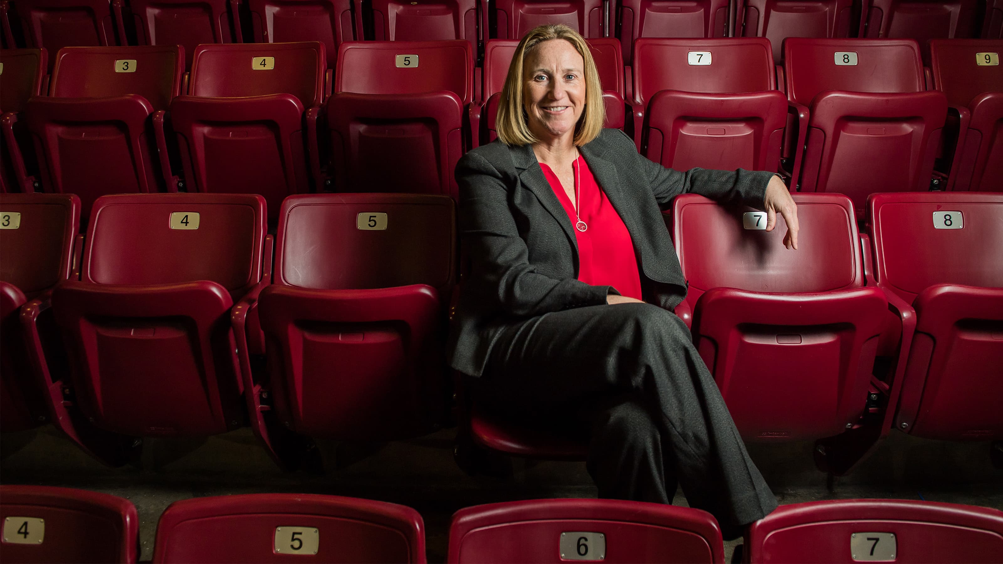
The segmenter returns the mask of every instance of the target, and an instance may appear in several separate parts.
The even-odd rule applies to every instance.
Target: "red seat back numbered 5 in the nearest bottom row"
[[[310,494],[175,502],[156,526],[153,562],[425,562],[424,523],[409,507]]]

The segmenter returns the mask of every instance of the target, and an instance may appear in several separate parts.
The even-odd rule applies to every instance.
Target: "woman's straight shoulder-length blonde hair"
[[[501,88],[495,129],[501,143],[509,146],[533,145],[538,139],[530,131],[529,117],[523,107],[523,62],[538,45],[551,39],[564,39],[575,47],[585,61],[585,110],[575,125],[575,145],[581,147],[599,136],[606,121],[603,103],[603,85],[599,81],[592,50],[577,31],[567,25],[541,25],[532,29],[516,47],[516,54],[509,65],[509,75]]]

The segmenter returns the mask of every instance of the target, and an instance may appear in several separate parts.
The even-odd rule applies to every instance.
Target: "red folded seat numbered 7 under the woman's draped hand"
[[[854,208],[838,194],[795,194],[797,252],[779,216],[738,214],[696,195],[673,204],[693,339],[742,437],[804,441],[860,425],[888,307],[865,287]]]

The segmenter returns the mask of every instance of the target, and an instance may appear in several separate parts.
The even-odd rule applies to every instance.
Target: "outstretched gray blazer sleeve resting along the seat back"
[[[649,186],[660,206],[668,206],[680,194],[692,193],[716,200],[722,204],[742,204],[761,210],[766,198],[766,185],[775,173],[762,171],[712,171],[690,169],[685,173],[666,169],[637,152],[637,146],[620,131],[623,140],[629,145],[629,153],[635,160],[634,170],[648,180]],[[625,147],[626,151],[628,148]]]

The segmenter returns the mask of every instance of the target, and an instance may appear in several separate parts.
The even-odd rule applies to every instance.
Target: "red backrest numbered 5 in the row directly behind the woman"
[[[417,66],[403,60],[407,55],[417,55]],[[335,92],[443,90],[456,94],[464,105],[473,99],[473,50],[468,41],[357,41],[342,44],[338,51]]]

